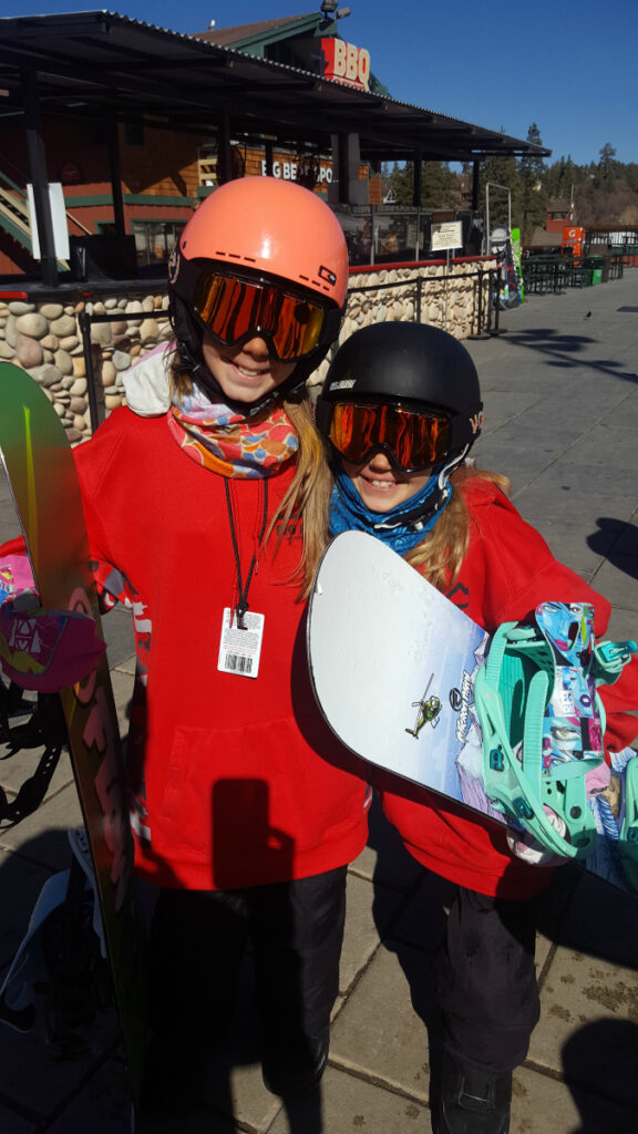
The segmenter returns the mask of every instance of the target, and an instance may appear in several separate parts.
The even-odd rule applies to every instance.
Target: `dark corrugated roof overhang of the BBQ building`
[[[460,119],[368,94],[109,11],[0,19],[0,118],[23,110],[23,71],[37,74],[42,113],[120,121],[328,150],[359,134],[368,161],[476,161],[551,151]]]

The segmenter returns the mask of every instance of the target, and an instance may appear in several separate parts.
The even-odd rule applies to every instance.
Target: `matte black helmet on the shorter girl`
[[[337,352],[317,403],[317,425],[329,438],[337,403],[433,411],[450,422],[445,460],[465,455],[482,424],[476,366],[447,331],[423,323],[376,323]]]

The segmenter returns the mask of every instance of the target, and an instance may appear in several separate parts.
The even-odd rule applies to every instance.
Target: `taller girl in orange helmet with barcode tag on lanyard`
[[[175,249],[175,341],[77,450],[101,583],[134,611],[131,806],[159,895],[145,1101],[161,1111],[196,1092],[249,938],[267,1085],[308,1090],[326,1064],[367,799],[300,645],[329,491],[304,383],[346,287],[320,198],[271,178],[224,185]]]

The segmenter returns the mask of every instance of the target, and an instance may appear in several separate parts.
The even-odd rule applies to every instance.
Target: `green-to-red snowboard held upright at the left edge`
[[[75,462],[45,393],[18,366],[0,363],[0,456],[43,607],[100,610]],[[144,962],[133,873],[125,768],[107,654],[60,693],[68,748],[99,897],[134,1102],[145,1051]]]

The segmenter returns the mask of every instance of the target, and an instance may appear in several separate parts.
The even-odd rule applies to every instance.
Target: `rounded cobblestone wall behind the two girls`
[[[445,264],[354,272],[339,342],[370,323],[412,322],[419,316],[423,323],[467,338],[478,330],[479,290],[485,320],[490,266],[495,261],[455,263],[450,274]],[[59,301],[58,294],[47,301],[35,294],[30,299],[0,297],[0,361],[17,363],[33,375],[56,407],[69,441],[76,443],[91,433],[79,314],[112,315],[112,321],[91,323],[96,400],[108,413],[124,401],[123,373],[170,336],[167,308],[168,296],[161,285],[148,294],[138,287],[127,291],[123,285],[118,296],[106,294],[99,299],[61,289]],[[335,350],[336,346],[312,375],[313,386],[322,381]]]

